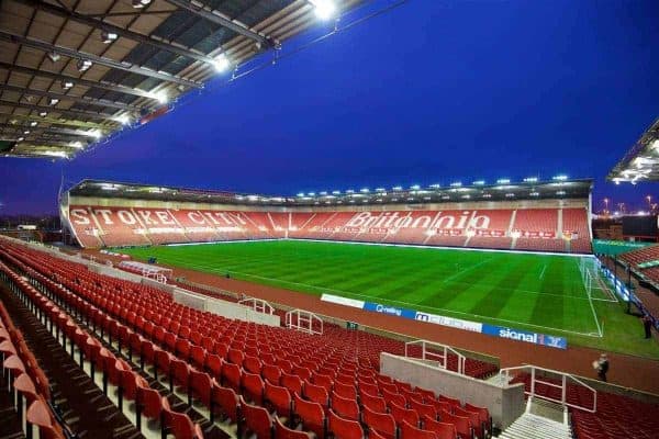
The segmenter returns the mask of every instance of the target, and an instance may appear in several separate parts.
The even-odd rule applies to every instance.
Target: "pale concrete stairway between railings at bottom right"
[[[567,409],[538,398],[529,398],[526,413],[499,435],[503,439],[572,439]]]

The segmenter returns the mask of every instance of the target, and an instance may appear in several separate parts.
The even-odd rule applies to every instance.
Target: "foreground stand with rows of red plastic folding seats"
[[[27,295],[33,302],[53,301],[58,309],[77,316],[80,325],[90,328],[90,334],[100,335],[100,342],[90,345],[96,349],[87,350],[86,356],[98,362],[99,370],[110,382],[116,379],[112,378],[115,372],[108,369],[108,364],[133,364],[155,378],[156,383],[168,386],[170,392],[176,387],[177,393],[187,394],[188,405],[199,399],[208,406],[210,416],[230,417],[231,423],[244,431],[258,432],[264,425],[271,431],[268,426],[277,423],[267,410],[260,409],[269,404],[282,413],[292,412],[291,427],[300,424],[319,437],[325,437],[327,429],[336,430],[335,434],[344,428],[357,431],[356,427],[361,428],[359,423],[333,415],[330,395],[338,392],[344,399],[354,402],[346,403],[353,406],[353,417],[357,404],[358,418],[383,437],[398,435],[398,425],[402,423],[393,414],[384,413],[388,410],[381,396],[384,392],[399,395],[403,412],[398,414],[405,419],[414,417],[411,412],[416,403],[432,407],[442,404],[440,395],[412,389],[378,372],[379,352],[401,348],[401,342],[394,340],[338,327],[331,327],[322,336],[312,336],[226,319],[175,303],[160,290],[93,273],[86,266],[3,239],[0,258],[40,285],[44,294],[49,294],[49,297],[40,297],[42,293],[30,288]],[[13,279],[22,278],[13,272]],[[25,280],[23,283],[29,284]],[[89,342],[82,341],[82,336],[77,338],[78,334],[86,334],[85,328],[70,317],[62,322],[71,322],[63,326],[68,328],[66,337],[86,349]],[[93,336],[86,336],[85,340],[90,337]],[[76,341],[78,339],[80,341]],[[473,361],[472,365],[483,364]],[[492,369],[485,375],[491,372]],[[135,380],[137,387],[139,383],[144,385],[138,378]],[[209,382],[212,383],[210,391]],[[152,393],[146,387],[137,390],[142,415],[148,418],[163,414],[161,428],[177,438],[201,437],[199,426],[185,414],[175,414],[166,399],[148,395]],[[459,402],[455,404],[462,407]],[[468,405],[463,409],[482,413]],[[349,412],[345,407],[343,410]],[[421,415],[417,416],[421,419]],[[446,420],[449,416],[455,415],[435,413],[432,418]],[[327,417],[328,424],[325,423]],[[483,428],[489,431],[488,425],[468,423],[469,432]]]

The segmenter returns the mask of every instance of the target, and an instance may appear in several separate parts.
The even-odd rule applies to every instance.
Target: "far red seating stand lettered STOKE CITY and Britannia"
[[[236,212],[71,206],[82,247],[302,238],[590,252],[583,209]],[[563,230],[559,230],[562,218]],[[90,225],[98,225],[90,235]],[[100,237],[97,238],[97,236]],[[570,239],[568,239],[570,238]]]

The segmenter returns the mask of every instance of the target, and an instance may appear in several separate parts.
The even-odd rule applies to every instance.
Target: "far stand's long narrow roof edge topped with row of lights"
[[[446,188],[414,185],[411,188],[377,188],[360,190],[311,192],[298,195],[247,194],[209,191],[185,188],[156,187],[147,184],[120,183],[101,180],[82,180],[69,189],[71,196],[119,198],[130,200],[157,200],[179,202],[223,203],[236,205],[267,206],[323,206],[356,204],[425,204],[474,201],[513,200],[560,200],[588,199],[592,190],[592,179],[568,180],[557,178],[550,181],[500,182],[471,185],[453,183]]]

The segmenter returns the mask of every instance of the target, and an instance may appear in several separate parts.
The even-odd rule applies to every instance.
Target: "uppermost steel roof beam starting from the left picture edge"
[[[46,43],[44,41],[33,38],[31,36],[22,36],[19,34],[14,34],[7,31],[0,31],[0,40],[8,41],[13,44],[22,44],[29,47],[37,48],[44,52],[55,52],[69,58],[90,60],[92,63],[99,64],[101,66],[105,66],[109,68],[129,71],[131,74],[142,75],[148,78],[160,79],[163,81],[178,83],[180,86],[186,86],[194,89],[202,89],[203,85],[197,81],[191,81],[189,79],[179,78],[178,76],[170,75],[164,71],[155,71],[152,69],[147,69],[144,67],[136,66],[134,64],[129,63],[120,63],[113,59],[104,58],[102,56],[88,54],[85,52],[78,52],[68,47],[62,47],[56,44]]]

